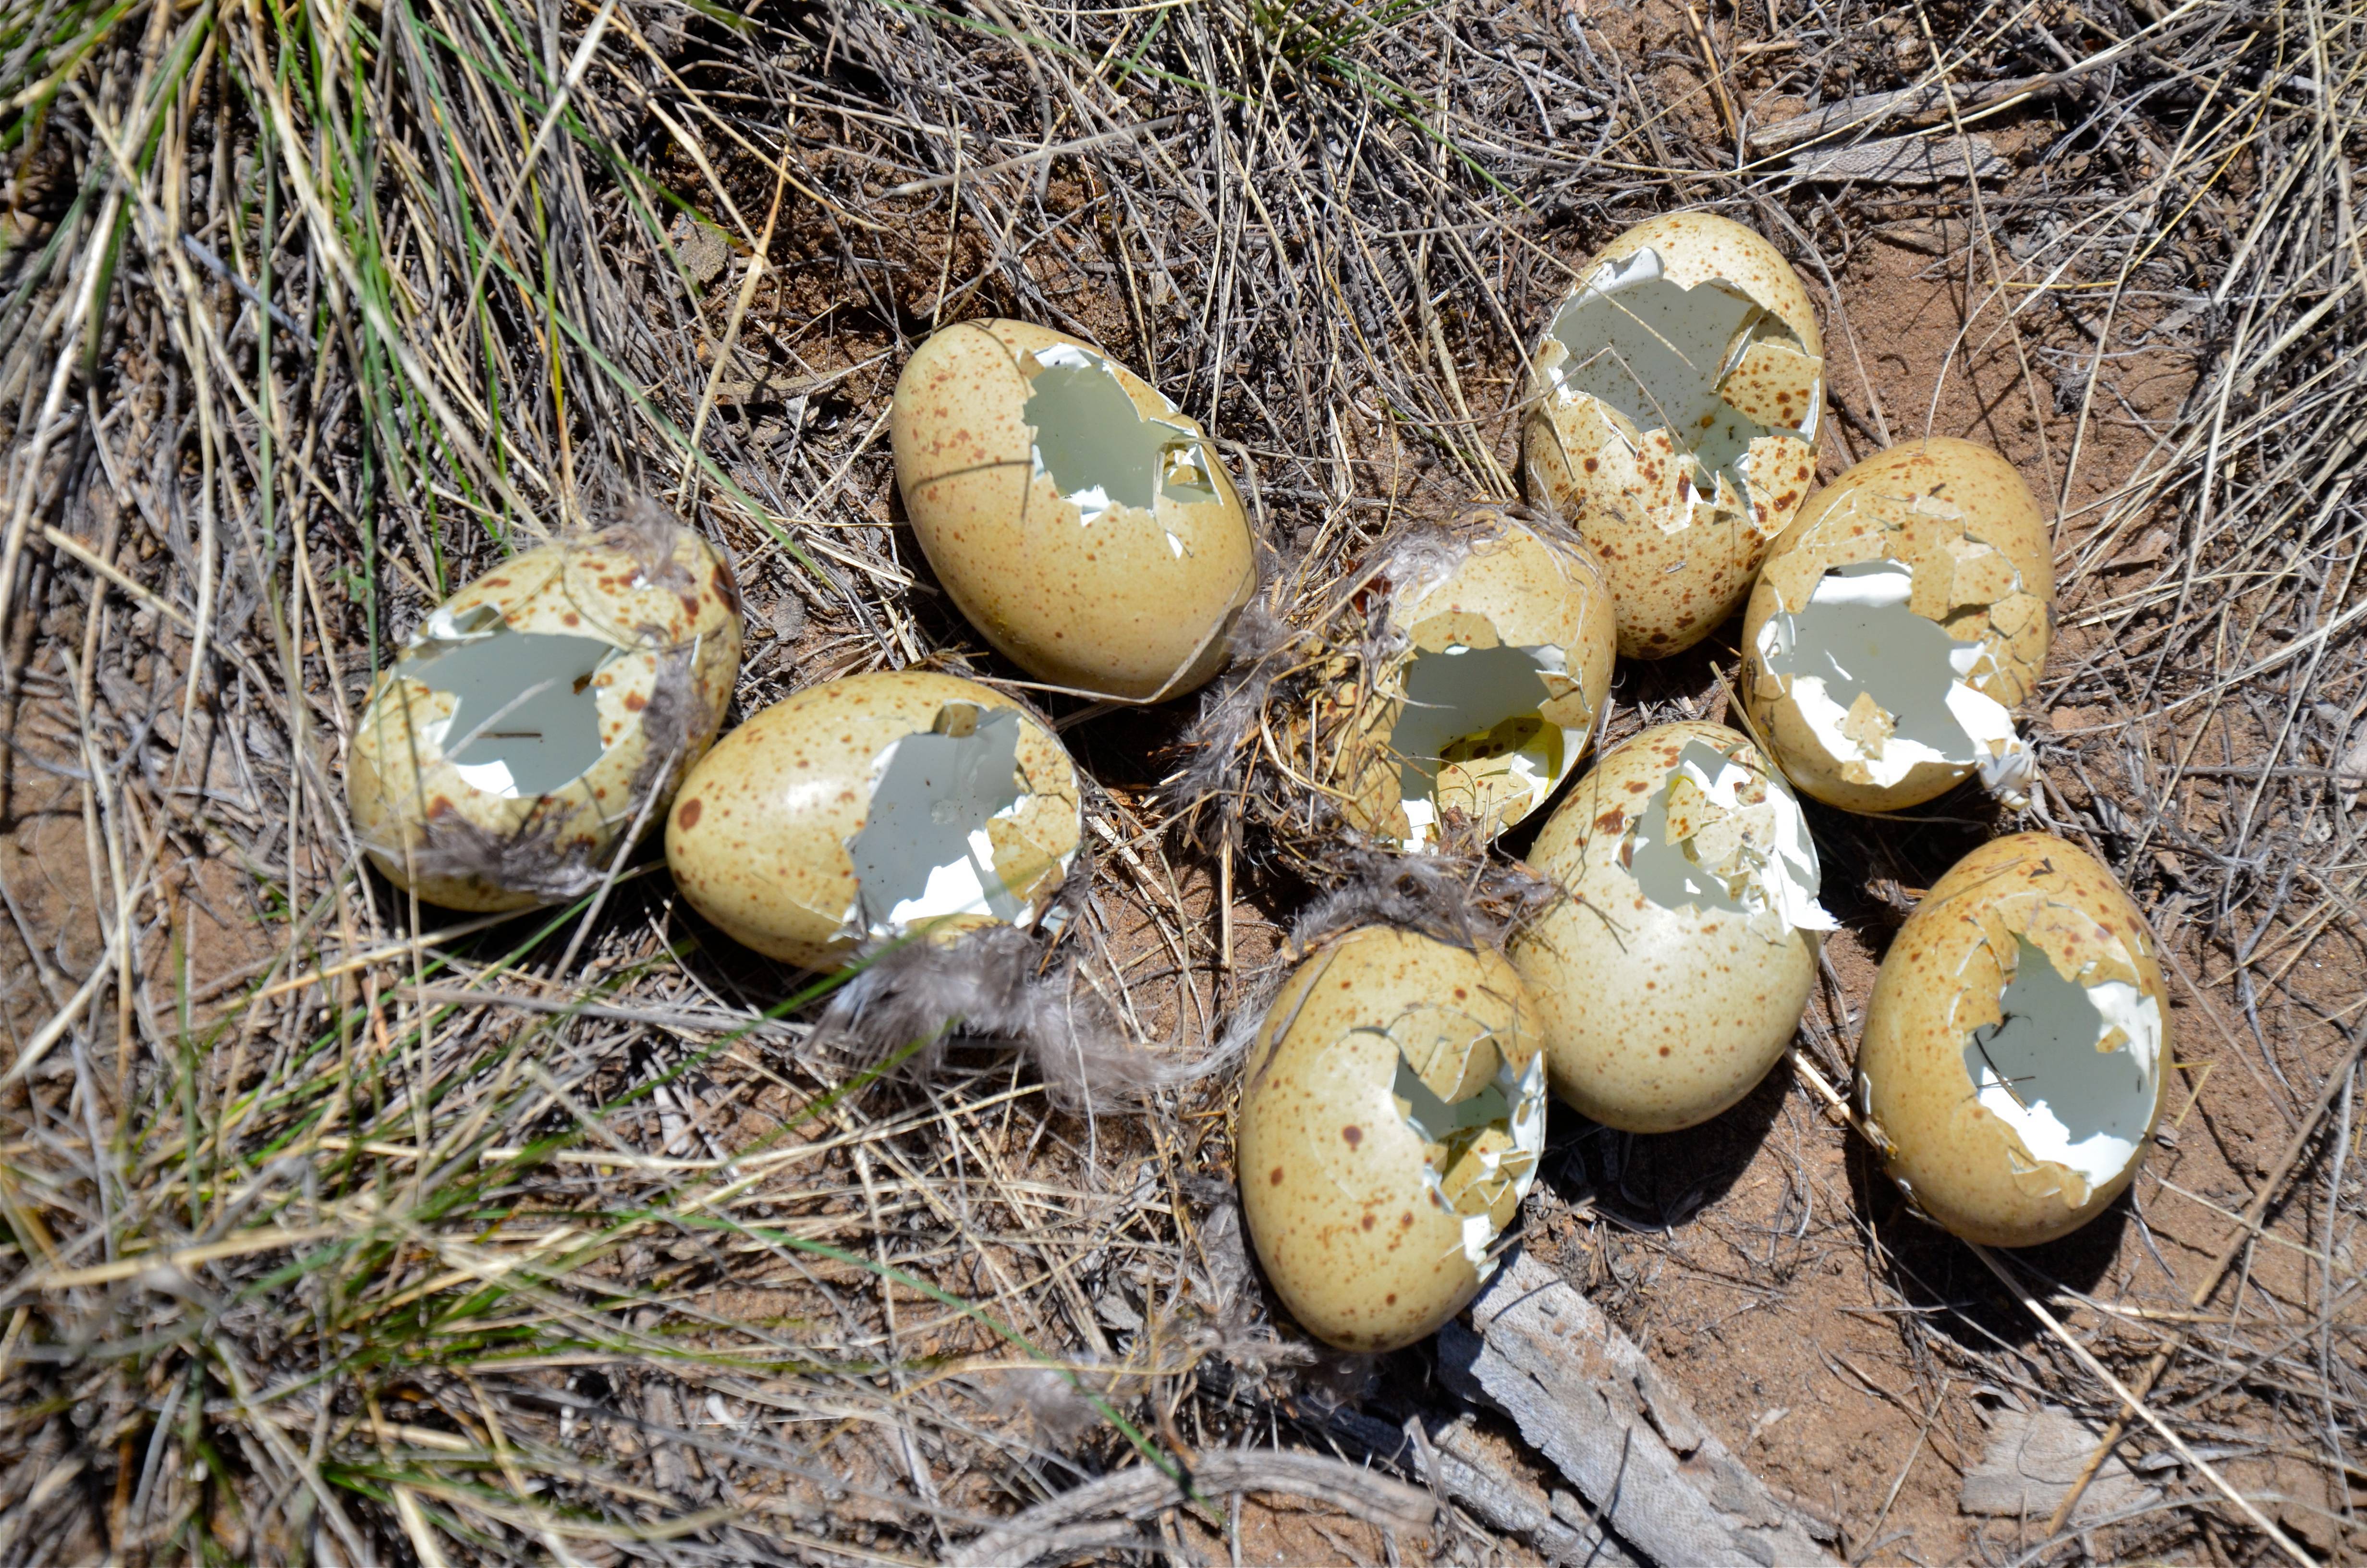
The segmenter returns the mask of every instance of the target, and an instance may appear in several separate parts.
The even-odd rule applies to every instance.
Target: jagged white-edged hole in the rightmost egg
[[[1972,1030],[1965,1075],[2031,1158],[2104,1187],[2154,1120],[2161,1009],[2128,981],[2064,978],[2026,936],[2014,945],[2002,1016]]]

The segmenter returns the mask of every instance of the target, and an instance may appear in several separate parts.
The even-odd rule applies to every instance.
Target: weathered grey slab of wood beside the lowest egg
[[[1664,1568],[1832,1563],[1636,1343],[1543,1260],[1513,1253],[1439,1331],[1449,1386],[1522,1438]]]

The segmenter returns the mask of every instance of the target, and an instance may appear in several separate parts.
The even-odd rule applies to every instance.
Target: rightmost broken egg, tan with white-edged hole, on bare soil
[[[2019,1040],[2000,1037],[2010,1004],[2024,1009]],[[2078,846],[2014,834],[1955,862],[1891,940],[1865,1007],[1858,1104],[1891,1180],[1931,1220],[2036,1246],[2135,1180],[2168,1049],[2145,917]]]

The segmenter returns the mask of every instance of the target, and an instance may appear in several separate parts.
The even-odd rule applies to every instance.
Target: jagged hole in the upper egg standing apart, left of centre
[[[1120,507],[1155,512],[1160,495],[1181,505],[1217,497],[1200,436],[1181,424],[1143,419],[1110,362],[1075,343],[1023,355],[1034,471],[1091,526]],[[1184,554],[1184,540],[1167,535]]]

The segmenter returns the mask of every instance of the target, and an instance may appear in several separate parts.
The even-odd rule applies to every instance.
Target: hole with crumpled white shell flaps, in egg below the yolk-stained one
[[[1780,782],[1709,741],[1685,741],[1626,827],[1619,862],[1662,910],[1728,910],[1771,943],[1834,931],[1815,902],[1815,841]]]

